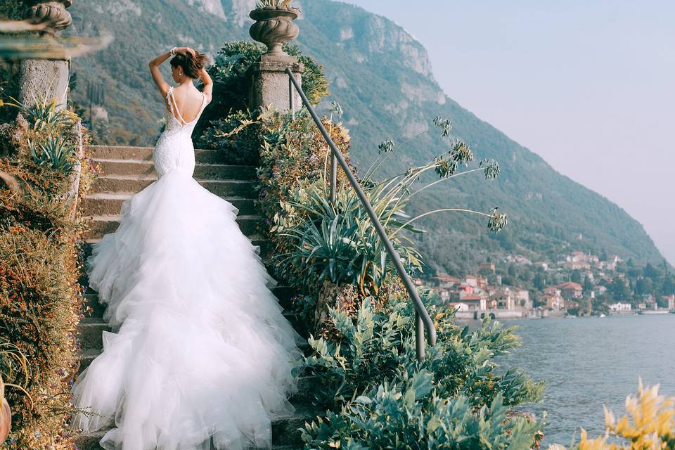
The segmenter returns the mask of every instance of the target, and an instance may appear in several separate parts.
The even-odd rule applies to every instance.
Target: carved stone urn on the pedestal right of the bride
[[[293,23],[298,15],[300,15],[298,8],[256,8],[249,14],[250,18],[255,20],[249,34],[267,46],[266,56],[290,58],[281,50],[281,46],[300,34],[300,28]]]

